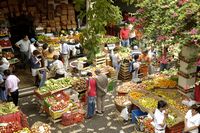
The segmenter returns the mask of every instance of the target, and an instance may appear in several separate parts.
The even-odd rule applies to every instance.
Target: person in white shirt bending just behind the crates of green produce
[[[50,71],[54,71],[55,74],[55,79],[64,77],[66,75],[66,71],[64,68],[64,65],[62,63],[62,61],[58,60],[58,55],[54,55],[53,56],[53,63],[50,65]]]

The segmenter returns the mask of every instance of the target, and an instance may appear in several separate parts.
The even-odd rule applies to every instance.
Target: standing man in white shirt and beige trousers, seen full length
[[[63,58],[65,70],[68,69],[68,64],[69,64],[69,57],[70,57],[70,48],[64,40],[61,40],[61,48],[60,48],[60,53]]]

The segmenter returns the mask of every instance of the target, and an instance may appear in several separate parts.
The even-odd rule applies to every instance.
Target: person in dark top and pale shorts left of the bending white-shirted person
[[[39,77],[37,75],[37,70],[42,67],[42,54],[38,50],[33,51],[33,55],[31,56],[31,72],[32,76],[35,79],[35,85],[39,85]]]

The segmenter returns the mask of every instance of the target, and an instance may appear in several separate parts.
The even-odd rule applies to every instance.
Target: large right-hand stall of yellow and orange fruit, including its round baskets
[[[153,116],[158,101],[164,100],[169,105],[167,132],[179,132],[184,128],[184,116],[188,111],[188,107],[182,104],[187,96],[177,89],[177,81],[172,76],[174,73],[164,73],[148,77],[139,84],[133,82],[122,83],[116,89],[115,105],[119,112],[128,107],[129,112],[140,109],[142,112],[147,112]],[[151,119],[145,117],[142,121],[146,124],[148,131],[154,131],[152,125],[149,124],[149,121],[152,121]]]

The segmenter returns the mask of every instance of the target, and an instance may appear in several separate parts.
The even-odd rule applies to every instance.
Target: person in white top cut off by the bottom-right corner
[[[186,133],[199,133],[198,127],[200,126],[200,106],[193,105],[185,115],[185,128]]]

